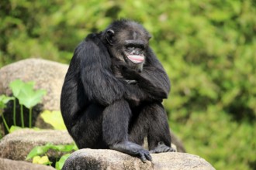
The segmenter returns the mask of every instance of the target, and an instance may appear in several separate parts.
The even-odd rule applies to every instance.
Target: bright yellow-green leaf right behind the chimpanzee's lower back
[[[61,111],[44,110],[41,114],[41,117],[43,118],[43,121],[45,121],[47,124],[52,125],[56,130],[67,129],[64,124]]]

